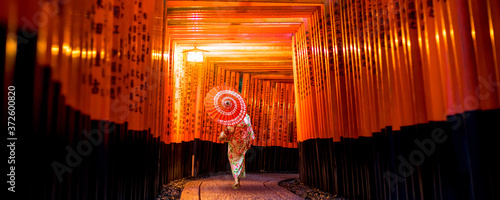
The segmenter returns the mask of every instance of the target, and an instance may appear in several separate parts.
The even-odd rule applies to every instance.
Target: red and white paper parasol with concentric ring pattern
[[[245,118],[247,107],[238,91],[228,86],[212,88],[205,97],[208,116],[222,125],[235,125]]]

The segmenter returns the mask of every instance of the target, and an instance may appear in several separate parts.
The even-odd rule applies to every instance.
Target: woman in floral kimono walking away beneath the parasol
[[[245,178],[245,153],[250,149],[253,139],[255,136],[248,114],[236,126],[226,126],[219,136],[219,141],[229,143],[227,157],[234,177],[233,189],[239,188],[240,179]]]

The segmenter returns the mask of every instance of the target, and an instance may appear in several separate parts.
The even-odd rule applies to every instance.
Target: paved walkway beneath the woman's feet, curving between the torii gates
[[[241,188],[233,189],[231,175],[220,175],[191,181],[182,191],[181,199],[301,199],[283,189],[278,182],[298,178],[298,174],[247,174]]]

